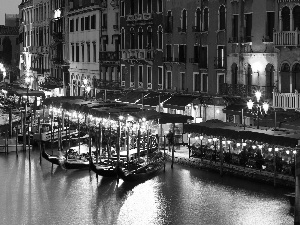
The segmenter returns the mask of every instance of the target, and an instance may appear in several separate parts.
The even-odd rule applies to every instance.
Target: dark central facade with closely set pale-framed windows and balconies
[[[163,90],[163,2],[120,2],[121,86],[126,89]]]

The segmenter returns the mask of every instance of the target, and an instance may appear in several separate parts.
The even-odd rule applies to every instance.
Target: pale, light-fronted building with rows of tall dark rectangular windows
[[[69,61],[70,61],[70,95],[95,96],[95,86],[104,80],[106,71],[100,67],[100,54],[107,50],[108,25],[116,23],[118,17],[111,15],[115,8],[104,0],[95,1],[69,1],[68,35],[69,35]],[[108,23],[108,15],[111,16]],[[110,29],[111,31],[112,29]],[[110,39],[112,41],[113,39]],[[108,46],[111,50],[111,46]],[[113,72],[117,73],[117,70]],[[97,85],[95,85],[97,83]],[[87,87],[91,92],[87,93]]]

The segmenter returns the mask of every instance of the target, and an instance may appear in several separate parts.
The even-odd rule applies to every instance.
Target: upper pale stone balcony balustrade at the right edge
[[[300,31],[281,31],[274,33],[275,46],[300,46]]]

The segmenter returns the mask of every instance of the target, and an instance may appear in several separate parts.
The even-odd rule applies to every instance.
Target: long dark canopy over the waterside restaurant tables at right
[[[200,124],[184,125],[184,132],[203,133],[212,136],[221,136],[229,139],[248,139],[273,145],[295,147],[300,139],[300,131],[287,129],[256,129],[252,127],[234,126],[220,121],[208,121]]]

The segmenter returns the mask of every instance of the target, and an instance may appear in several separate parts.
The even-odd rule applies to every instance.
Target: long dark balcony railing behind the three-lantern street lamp
[[[275,86],[258,86],[244,84],[220,84],[220,95],[240,96],[243,98],[252,97],[257,90],[262,93],[262,99],[272,99]]]

